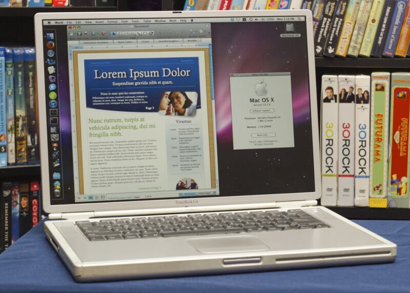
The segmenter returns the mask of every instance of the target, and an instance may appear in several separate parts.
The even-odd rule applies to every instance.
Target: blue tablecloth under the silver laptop
[[[355,221],[398,245],[394,263],[292,271],[76,283],[43,222],[0,255],[0,292],[410,292],[410,221]]]

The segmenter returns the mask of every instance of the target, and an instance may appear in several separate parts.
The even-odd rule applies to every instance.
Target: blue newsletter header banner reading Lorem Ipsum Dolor
[[[157,112],[163,93],[196,92],[200,108],[199,58],[84,60],[88,108]]]

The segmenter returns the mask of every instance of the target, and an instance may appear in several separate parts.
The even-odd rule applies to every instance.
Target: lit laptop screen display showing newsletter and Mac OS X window
[[[315,191],[304,16],[51,19],[43,37],[51,205]]]

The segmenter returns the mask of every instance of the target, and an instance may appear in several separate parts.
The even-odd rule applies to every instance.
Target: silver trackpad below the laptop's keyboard
[[[187,240],[201,253],[229,253],[268,250],[269,246],[255,236],[221,236]]]

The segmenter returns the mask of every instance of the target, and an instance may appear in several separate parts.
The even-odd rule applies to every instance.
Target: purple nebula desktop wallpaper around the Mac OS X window
[[[312,192],[309,70],[304,22],[282,38],[285,22],[212,24],[212,60],[221,195]],[[290,72],[295,147],[234,150],[230,74]]]

